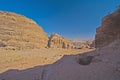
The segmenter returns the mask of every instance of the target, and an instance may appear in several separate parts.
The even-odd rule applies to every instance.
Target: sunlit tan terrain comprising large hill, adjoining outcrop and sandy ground
[[[52,64],[64,55],[90,50],[74,49],[72,42],[58,34],[48,37],[33,20],[0,11],[0,73]]]

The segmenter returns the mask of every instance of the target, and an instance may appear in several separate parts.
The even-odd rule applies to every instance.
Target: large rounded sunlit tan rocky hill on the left
[[[44,48],[48,36],[33,20],[24,16],[0,12],[0,47],[5,49]]]

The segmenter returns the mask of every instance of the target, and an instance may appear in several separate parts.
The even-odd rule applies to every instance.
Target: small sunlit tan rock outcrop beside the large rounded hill
[[[48,41],[49,48],[73,48],[73,44],[64,37],[61,37],[58,34],[52,34]]]

